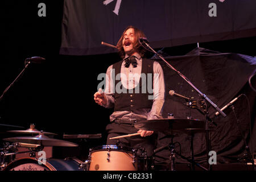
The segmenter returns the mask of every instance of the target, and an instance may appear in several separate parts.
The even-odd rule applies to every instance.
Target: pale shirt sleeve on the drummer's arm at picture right
[[[148,113],[147,119],[159,119],[162,118],[162,111],[165,99],[165,84],[164,74],[161,65],[158,62],[154,62],[154,78],[153,78],[153,104],[150,113]]]

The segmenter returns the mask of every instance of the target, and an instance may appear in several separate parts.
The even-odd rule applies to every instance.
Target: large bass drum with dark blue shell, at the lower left
[[[82,171],[81,163],[76,158],[46,159],[46,164],[39,164],[36,158],[22,158],[8,164],[3,171]]]

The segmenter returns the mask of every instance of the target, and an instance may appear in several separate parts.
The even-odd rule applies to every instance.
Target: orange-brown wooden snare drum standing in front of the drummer
[[[89,171],[137,171],[138,160],[133,151],[115,145],[94,147],[88,159]]]

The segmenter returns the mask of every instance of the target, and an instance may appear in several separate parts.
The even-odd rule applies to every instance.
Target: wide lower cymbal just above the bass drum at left
[[[22,142],[22,143],[30,143],[30,144],[40,144],[43,146],[59,146],[59,147],[77,147],[78,144],[67,142],[65,140],[59,140],[54,138],[49,138],[46,135],[40,134],[35,137],[12,137],[12,138],[4,138],[3,140],[9,142]]]

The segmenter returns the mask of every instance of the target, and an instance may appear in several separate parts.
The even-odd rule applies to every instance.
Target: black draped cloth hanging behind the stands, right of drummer
[[[230,107],[224,110],[227,115],[214,115],[216,110],[208,104],[209,117],[212,122],[210,127],[210,146],[212,151],[217,152],[217,163],[241,162],[245,159],[245,143],[242,135],[245,136],[251,152],[256,151],[254,123],[256,102],[253,88],[248,84],[249,77],[256,72],[256,58],[237,53],[220,53],[204,48],[196,48],[185,56],[166,57],[168,63],[183,73],[192,83],[203,92],[220,109],[239,96],[234,102],[234,112]],[[174,114],[175,118],[199,119],[205,121],[204,111],[199,108],[191,109],[186,101],[168,94],[169,90],[175,90],[186,97],[193,97],[193,101],[202,100],[196,90],[181,78],[177,73],[167,67],[167,64],[159,60],[164,70],[166,79],[166,102],[163,109],[163,117],[167,118],[168,113]],[[251,79],[253,80],[253,79]],[[253,83],[251,82],[251,85]],[[255,79],[254,79],[255,87]],[[236,122],[236,117],[239,125]],[[239,128],[242,129],[242,135]],[[177,131],[174,133],[175,150],[181,155],[190,157],[189,133]],[[165,146],[171,142],[170,133],[159,133],[158,147]],[[207,148],[205,131],[195,133],[193,151],[195,160],[198,163],[207,162]],[[181,148],[181,150],[180,150]],[[169,163],[170,151],[168,148],[156,154],[156,163]],[[177,163],[188,163],[187,160],[176,155]],[[239,160],[241,159],[241,160]]]

